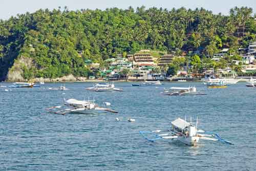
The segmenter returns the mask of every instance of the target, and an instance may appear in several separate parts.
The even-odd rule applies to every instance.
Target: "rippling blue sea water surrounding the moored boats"
[[[1,83],[2,86],[10,83]],[[239,82],[207,90],[199,82],[131,87],[123,92],[90,92],[93,83],[66,83],[70,91],[0,88],[0,170],[255,170],[256,89]],[[172,86],[195,85],[206,96],[165,96]],[[119,114],[49,114],[62,98],[111,102]],[[177,117],[199,117],[200,128],[219,133],[234,145],[200,141],[147,142],[139,131],[164,129]],[[115,118],[120,119],[119,122]],[[134,118],[136,122],[128,122]]]

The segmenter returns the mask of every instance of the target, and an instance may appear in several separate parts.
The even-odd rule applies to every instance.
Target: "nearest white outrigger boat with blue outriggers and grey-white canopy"
[[[177,139],[186,145],[197,145],[200,139],[219,141],[232,144],[230,141],[224,140],[217,133],[199,130],[196,125],[178,118],[172,122],[172,127],[168,130],[156,131],[140,131],[140,134],[148,141],[154,142],[160,139]],[[149,138],[151,136],[152,138]]]

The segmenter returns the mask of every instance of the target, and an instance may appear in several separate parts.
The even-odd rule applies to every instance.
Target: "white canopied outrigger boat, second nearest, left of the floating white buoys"
[[[102,108],[94,103],[95,100],[76,100],[76,99],[64,99],[64,103],[61,106],[53,106],[46,109],[50,113],[65,115],[68,113],[76,114],[95,114],[102,111],[118,113],[108,108]],[[57,111],[56,111],[57,110]]]

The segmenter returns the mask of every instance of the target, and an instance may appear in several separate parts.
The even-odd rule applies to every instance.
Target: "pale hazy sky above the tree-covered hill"
[[[67,6],[69,10],[87,8],[104,10],[112,7],[127,9],[129,6],[136,9],[142,5],[146,8],[162,7],[167,9],[180,7],[195,9],[203,7],[215,14],[221,12],[225,15],[228,15],[230,8],[247,6],[253,9],[253,13],[256,13],[256,0],[0,0],[0,19],[8,19],[11,16],[26,12],[32,13],[40,8],[57,9],[59,6],[62,8]]]

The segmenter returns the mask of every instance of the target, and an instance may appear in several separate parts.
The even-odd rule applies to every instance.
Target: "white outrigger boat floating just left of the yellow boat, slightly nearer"
[[[163,94],[170,95],[170,96],[180,96],[180,95],[199,95],[197,94],[196,87],[172,87],[164,91]]]

